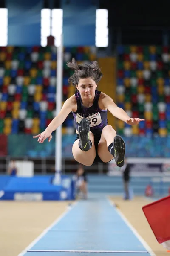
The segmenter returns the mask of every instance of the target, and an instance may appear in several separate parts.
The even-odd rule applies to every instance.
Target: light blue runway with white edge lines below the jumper
[[[47,216],[48,218],[48,216]],[[147,248],[147,249],[146,249]],[[155,255],[105,198],[79,201],[19,256]]]

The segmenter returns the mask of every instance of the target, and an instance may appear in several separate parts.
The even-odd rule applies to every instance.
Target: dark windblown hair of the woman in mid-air
[[[88,77],[91,77],[97,84],[103,76],[97,61],[91,61],[88,64],[77,64],[77,61],[73,58],[71,62],[67,63],[67,66],[75,70],[74,74],[68,79],[68,82],[74,86],[78,85],[79,79]]]

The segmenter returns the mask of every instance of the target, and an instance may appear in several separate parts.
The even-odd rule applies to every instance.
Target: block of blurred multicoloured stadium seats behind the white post
[[[65,47],[63,102],[74,94],[66,63],[96,59],[96,47]],[[0,47],[0,133],[38,134],[56,115],[56,47]],[[63,134],[75,132],[73,116],[63,123]]]

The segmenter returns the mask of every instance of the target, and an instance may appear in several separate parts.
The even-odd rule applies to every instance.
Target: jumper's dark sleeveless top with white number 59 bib
[[[83,106],[82,98],[79,91],[75,93],[77,101],[77,111],[72,113],[74,116],[74,122],[77,130],[80,120],[84,117],[88,118],[88,121],[90,123],[90,131],[95,135],[101,134],[102,129],[106,125],[108,125],[108,111],[100,109],[98,105],[100,93],[101,92],[98,90],[95,91],[94,103],[90,108],[86,108],[85,106]]]

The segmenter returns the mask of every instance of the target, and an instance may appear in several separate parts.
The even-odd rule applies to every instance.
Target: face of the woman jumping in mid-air
[[[97,84],[91,78],[82,78],[79,79],[79,84],[77,86],[77,90],[79,90],[81,96],[85,99],[91,99],[95,95]]]

